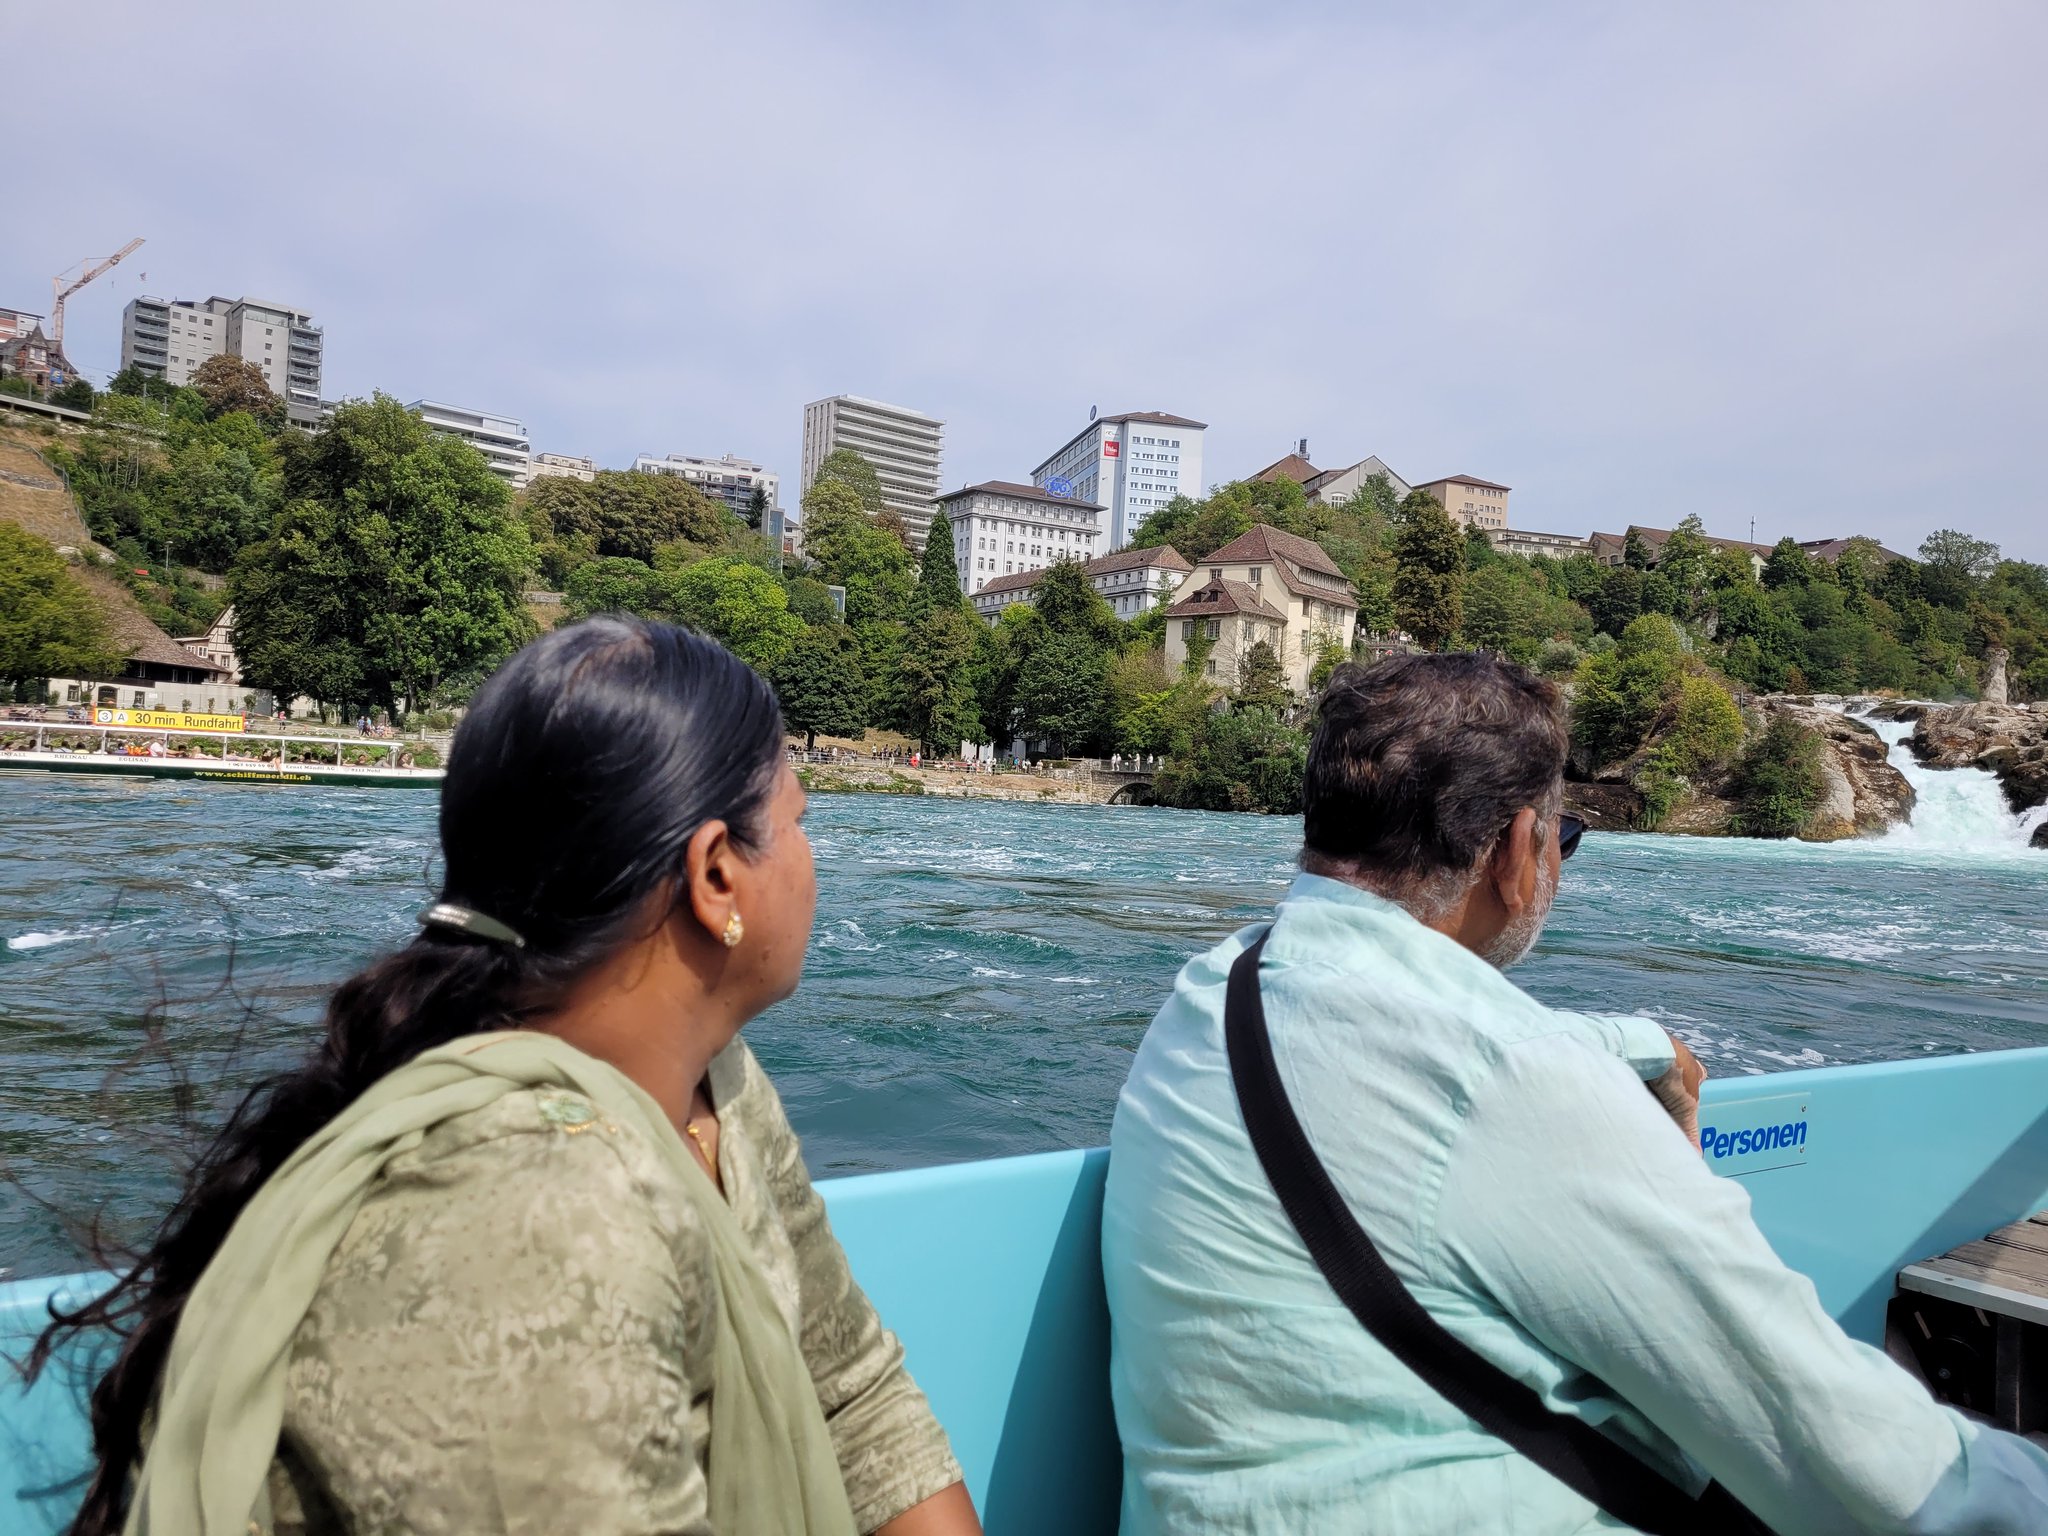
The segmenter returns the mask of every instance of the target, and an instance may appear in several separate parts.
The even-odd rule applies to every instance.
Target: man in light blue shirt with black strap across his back
[[[1726,1495],[1786,1536],[2048,1530],[2048,1454],[1851,1341],[1743,1186],[1706,1171],[1683,1047],[1501,975],[1577,842],[1565,748],[1559,690],[1505,662],[1403,655],[1331,678],[1303,874],[1270,932],[1186,965],[1116,1106],[1102,1255],[1124,1536],[1739,1530]],[[1260,1071],[1243,987],[1225,1030],[1227,977],[1262,934],[1249,997],[1333,1184],[1300,1225],[1247,1135],[1253,1112],[1276,1124],[1272,1100],[1233,1081],[1233,1049],[1247,1083]],[[1341,1212],[1397,1282],[1362,1315],[1386,1296],[1425,1309],[1409,1335],[1382,1327],[1401,1356],[1311,1257],[1311,1231],[1346,1241]],[[1364,1268],[1331,1272],[1358,1294]],[[1475,1413],[1403,1364],[1444,1329],[1485,1382]],[[1597,1425],[1595,1452],[1649,1485],[1636,1507],[1657,1522],[1604,1513],[1540,1448],[1481,1427],[1503,1386],[1536,1434],[1561,1432],[1552,1415]],[[1710,1479],[1718,1513],[1692,1503]]]

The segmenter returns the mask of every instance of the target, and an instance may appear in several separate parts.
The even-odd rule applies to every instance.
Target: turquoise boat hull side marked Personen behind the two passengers
[[[1778,1253],[1872,1343],[1903,1266],[2048,1204],[2048,1049],[1712,1081],[1700,1120],[1708,1165],[1745,1184]],[[1063,1151],[819,1186],[991,1536],[1116,1530],[1106,1167],[1106,1151]],[[0,1354],[27,1348],[51,1294],[92,1284],[0,1284]],[[78,1376],[0,1382],[0,1530],[61,1530],[84,1460]]]

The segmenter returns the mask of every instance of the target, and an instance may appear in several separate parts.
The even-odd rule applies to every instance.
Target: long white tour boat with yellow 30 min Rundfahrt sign
[[[100,711],[113,713],[113,711]],[[0,733],[29,733],[29,725],[0,721]],[[51,737],[92,737],[92,748],[53,745]],[[285,760],[287,748],[301,754]],[[377,788],[438,788],[440,768],[399,768],[395,762],[348,762],[348,754],[383,752],[395,760],[406,748],[369,735],[262,735],[254,731],[188,731],[164,725],[57,725],[37,723],[35,745],[0,745],[0,770],[45,774],[117,774],[125,778],[195,778],[207,784],[375,784]],[[268,752],[270,758],[262,754]],[[317,752],[317,758],[303,754]],[[334,762],[328,762],[328,756]]]

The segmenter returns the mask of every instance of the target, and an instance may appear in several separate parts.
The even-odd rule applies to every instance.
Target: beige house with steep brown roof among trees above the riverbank
[[[1165,664],[1180,672],[1190,645],[1206,639],[1204,672],[1219,688],[1237,684],[1253,645],[1266,641],[1288,686],[1309,692],[1323,651],[1350,653],[1358,635],[1358,594],[1321,545],[1264,522],[1239,535],[1194,571],[1165,610]]]

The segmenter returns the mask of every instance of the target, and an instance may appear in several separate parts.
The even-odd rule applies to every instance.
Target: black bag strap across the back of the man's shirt
[[[1690,1497],[1647,1462],[1583,1419],[1552,1413],[1532,1386],[1460,1343],[1415,1300],[1366,1229],[1358,1225],[1329,1169],[1309,1145],[1274,1063],[1260,999],[1260,956],[1268,934],[1231,965],[1223,1038],[1245,1130],[1288,1221],[1331,1290],[1409,1370],[1487,1434],[1505,1440],[1559,1483],[1649,1536],[1729,1536],[1763,1530],[1718,1485]]]

